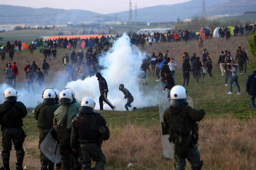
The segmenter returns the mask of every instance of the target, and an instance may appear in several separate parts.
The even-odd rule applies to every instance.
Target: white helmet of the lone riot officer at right
[[[181,85],[175,85],[170,92],[171,106],[178,107],[187,102],[187,90]]]

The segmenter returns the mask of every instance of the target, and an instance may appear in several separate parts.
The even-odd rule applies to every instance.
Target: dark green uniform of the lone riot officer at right
[[[197,149],[198,125],[204,117],[204,110],[196,110],[188,103],[179,107],[169,107],[164,112],[164,129],[168,130],[173,143],[174,166],[176,170],[185,170],[186,158],[192,170],[200,170],[203,161]]]

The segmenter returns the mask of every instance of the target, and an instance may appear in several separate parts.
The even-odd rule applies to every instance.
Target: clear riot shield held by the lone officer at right
[[[188,106],[193,107],[193,100],[191,97],[188,96],[187,98]],[[161,135],[162,135],[162,144],[163,144],[163,151],[164,151],[164,157],[165,158],[173,158],[174,151],[172,147],[172,143],[169,141],[170,135],[168,132],[165,132],[163,130],[163,122],[164,122],[164,111],[170,107],[170,101],[166,99],[162,99],[159,101],[159,117],[160,117],[160,123],[161,123]]]

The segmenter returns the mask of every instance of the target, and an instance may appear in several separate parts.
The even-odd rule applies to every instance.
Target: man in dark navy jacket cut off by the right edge
[[[246,92],[249,93],[251,99],[251,106],[256,110],[255,106],[255,97],[256,97],[256,70],[252,72],[250,76],[248,76],[246,82]]]

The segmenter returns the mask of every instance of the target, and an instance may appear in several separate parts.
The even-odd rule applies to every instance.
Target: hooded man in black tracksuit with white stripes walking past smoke
[[[103,111],[103,101],[105,101],[105,103],[108,104],[109,107],[111,107],[112,111],[115,110],[116,106],[112,105],[110,103],[110,101],[108,101],[107,99],[107,95],[108,95],[108,84],[107,81],[104,77],[102,77],[102,75],[100,74],[100,72],[96,73],[96,77],[99,80],[99,88],[100,88],[100,98],[99,98],[99,102],[100,102],[100,110],[99,111]]]

